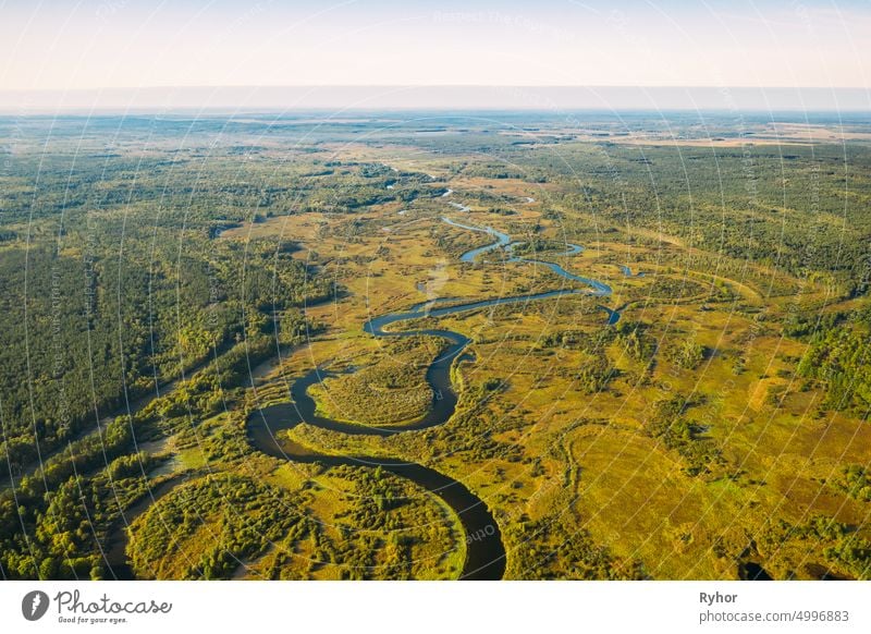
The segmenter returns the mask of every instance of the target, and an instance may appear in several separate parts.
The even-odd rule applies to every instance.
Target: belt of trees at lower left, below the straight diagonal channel
[[[2,576],[103,576],[102,554],[110,528],[156,484],[147,477],[154,458],[135,448],[147,440],[175,436],[180,450],[197,448],[209,463],[246,459],[248,446],[237,418],[231,415],[214,424],[210,417],[238,407],[244,394],[240,386],[246,385],[250,366],[273,354],[274,341],[266,333],[234,345],[135,414],[120,416],[70,442],[36,473],[21,478],[14,491],[0,491]],[[68,526],[64,533],[76,536],[70,542],[73,550],[56,547],[59,528],[52,523],[60,521]],[[70,527],[70,522],[77,524]],[[75,561],[68,561],[72,557],[68,551],[75,552]]]

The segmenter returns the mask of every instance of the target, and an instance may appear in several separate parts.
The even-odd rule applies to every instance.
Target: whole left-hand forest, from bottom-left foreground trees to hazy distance
[[[101,540],[154,485],[137,444],[232,403],[335,292],[293,243],[214,240],[263,193],[229,155],[199,181],[191,156],[74,153],[69,132],[47,154],[26,137],[0,176],[2,577],[101,576]]]

